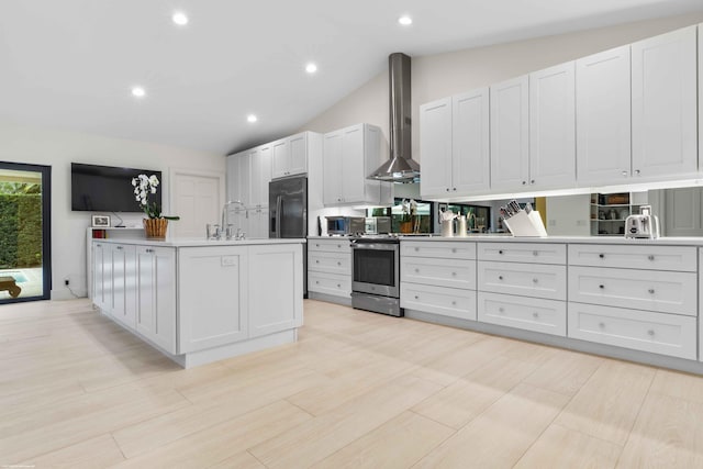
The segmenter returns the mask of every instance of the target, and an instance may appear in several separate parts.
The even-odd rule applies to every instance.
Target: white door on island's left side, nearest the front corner
[[[176,249],[136,247],[136,331],[176,354]]]

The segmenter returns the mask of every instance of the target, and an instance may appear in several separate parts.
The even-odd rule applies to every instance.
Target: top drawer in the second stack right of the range
[[[566,264],[567,245],[553,243],[479,243],[479,260]]]

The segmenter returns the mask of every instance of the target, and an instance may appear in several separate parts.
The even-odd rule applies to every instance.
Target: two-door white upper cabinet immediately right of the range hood
[[[420,107],[424,198],[489,189],[489,91],[480,88]]]

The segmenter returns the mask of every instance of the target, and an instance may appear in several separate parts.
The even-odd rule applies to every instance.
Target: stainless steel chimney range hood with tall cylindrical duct
[[[410,57],[394,53],[388,56],[391,158],[371,172],[368,179],[409,183],[420,181],[420,165],[411,157],[412,133],[410,105]]]

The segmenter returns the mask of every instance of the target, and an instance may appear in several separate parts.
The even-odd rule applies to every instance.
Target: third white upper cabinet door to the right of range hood
[[[491,87],[491,190],[526,189],[529,180],[528,79]]]

